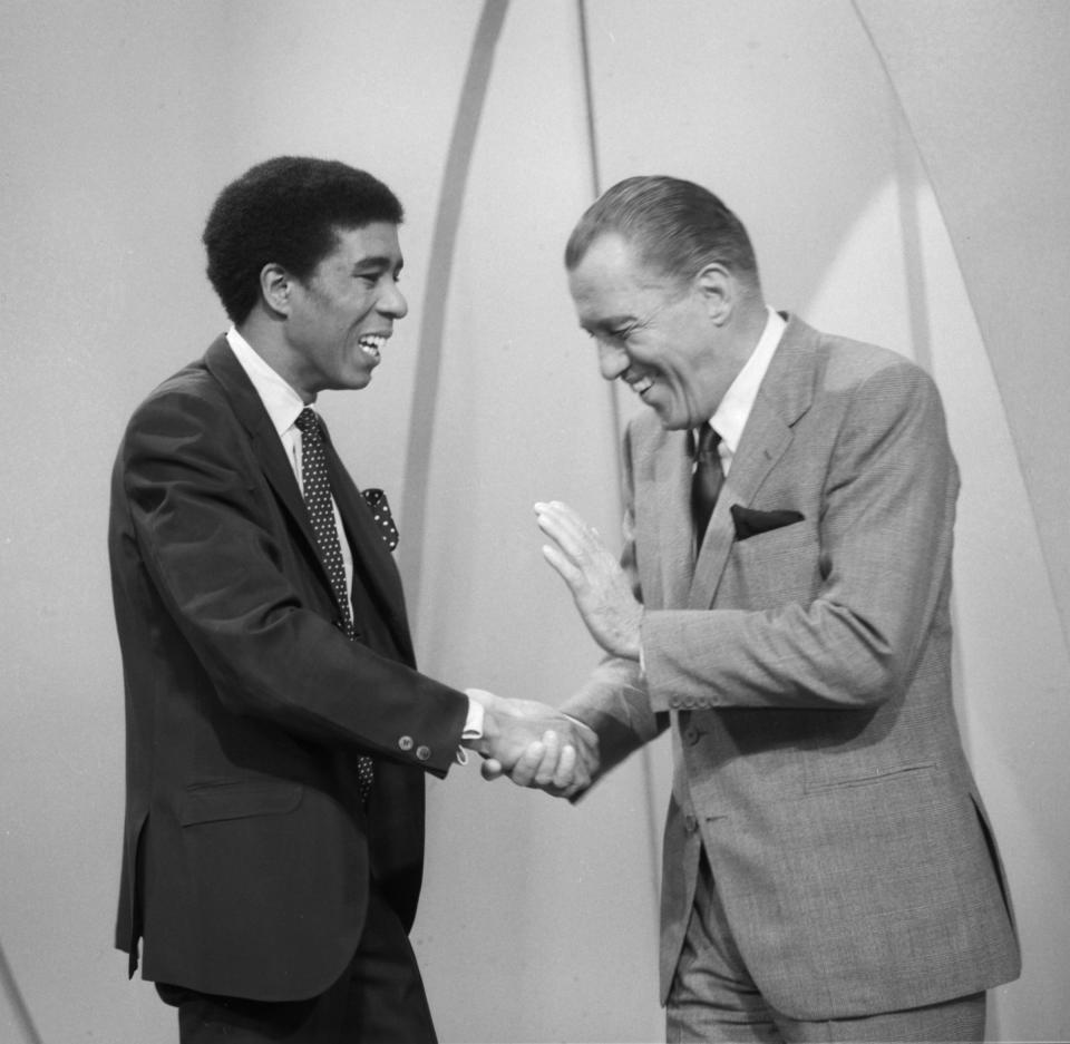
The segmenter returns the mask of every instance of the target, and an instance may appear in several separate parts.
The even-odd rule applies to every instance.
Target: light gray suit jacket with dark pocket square
[[[600,733],[604,769],[671,721],[662,998],[701,846],[751,975],[790,1017],[1014,978],[952,706],[959,476],[932,380],[790,319],[697,555],[687,432],[644,414],[624,452],[645,671],[611,657],[566,710]],[[733,505],[802,517],[741,539]]]

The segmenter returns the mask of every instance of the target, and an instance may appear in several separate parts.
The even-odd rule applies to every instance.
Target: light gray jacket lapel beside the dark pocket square
[[[792,426],[810,407],[816,343],[809,326],[795,318],[788,321],[718,495],[696,562],[689,608],[709,608],[713,603],[736,539],[731,506],[750,506],[766,477],[791,445]]]

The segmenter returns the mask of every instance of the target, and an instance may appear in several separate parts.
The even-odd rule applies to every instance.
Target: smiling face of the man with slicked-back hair
[[[596,238],[568,273],[602,375],[628,383],[664,428],[709,420],[746,361],[721,331],[728,279],[711,265],[681,285],[651,271],[616,233]]]

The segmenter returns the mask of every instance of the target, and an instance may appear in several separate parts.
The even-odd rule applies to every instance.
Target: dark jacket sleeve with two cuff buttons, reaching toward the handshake
[[[467,697],[348,641],[313,605],[293,530],[236,420],[221,423],[218,404],[196,393],[150,399],[117,468],[129,550],[224,704],[445,775]],[[417,739],[402,750],[399,736]]]

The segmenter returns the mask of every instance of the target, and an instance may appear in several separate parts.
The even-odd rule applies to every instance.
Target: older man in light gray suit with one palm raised
[[[669,1040],[983,1040],[1019,952],[952,706],[932,380],[770,310],[742,224],[689,182],[614,186],[565,261],[602,375],[650,407],[622,565],[536,510],[610,654],[564,708],[602,771],[672,730]],[[560,790],[556,764],[512,774]]]

